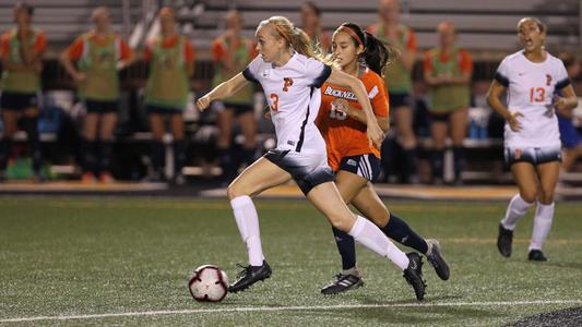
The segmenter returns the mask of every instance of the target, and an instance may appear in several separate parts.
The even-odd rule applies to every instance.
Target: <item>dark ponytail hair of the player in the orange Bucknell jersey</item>
[[[357,24],[343,23],[337,31],[343,28],[349,28],[353,32],[348,34],[352,36],[356,48],[359,45],[364,46],[364,52],[359,55],[359,58],[361,58],[361,60],[370,70],[378,75],[383,76],[385,66],[392,61],[391,57],[394,53],[392,47],[378,39],[371,33],[365,32]]]

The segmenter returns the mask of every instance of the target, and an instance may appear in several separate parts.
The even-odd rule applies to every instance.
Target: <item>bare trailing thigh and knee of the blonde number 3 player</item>
[[[342,199],[334,182],[325,182],[314,186],[307,194],[307,198],[336,229],[349,232],[354,227],[355,215]]]

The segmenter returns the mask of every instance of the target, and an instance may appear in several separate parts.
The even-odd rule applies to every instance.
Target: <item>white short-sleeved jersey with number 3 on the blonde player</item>
[[[283,66],[273,66],[259,55],[245,69],[245,78],[263,87],[278,149],[325,152],[313,121],[321,102],[319,88],[330,74],[329,65],[299,53]]]

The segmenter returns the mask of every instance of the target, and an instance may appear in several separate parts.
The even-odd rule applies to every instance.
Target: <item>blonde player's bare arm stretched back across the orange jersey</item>
[[[332,84],[349,87],[352,92],[354,92],[366,117],[366,125],[368,128],[367,134],[370,145],[373,142],[378,147],[380,147],[384,136],[382,130],[378,125],[376,117],[373,116],[372,106],[370,104],[370,99],[368,98],[368,94],[366,93],[366,86],[364,86],[364,83],[361,83],[361,81],[358,78],[337,70],[332,70],[328,81]]]

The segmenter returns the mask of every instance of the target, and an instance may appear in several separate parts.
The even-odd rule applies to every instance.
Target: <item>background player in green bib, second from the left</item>
[[[108,183],[114,181],[111,154],[119,110],[118,71],[130,65],[134,55],[111,29],[111,14],[107,8],[96,8],[91,20],[95,28],[78,37],[60,59],[73,77],[86,109],[81,180],[90,183],[98,177]],[[76,68],[73,61],[76,61]]]

